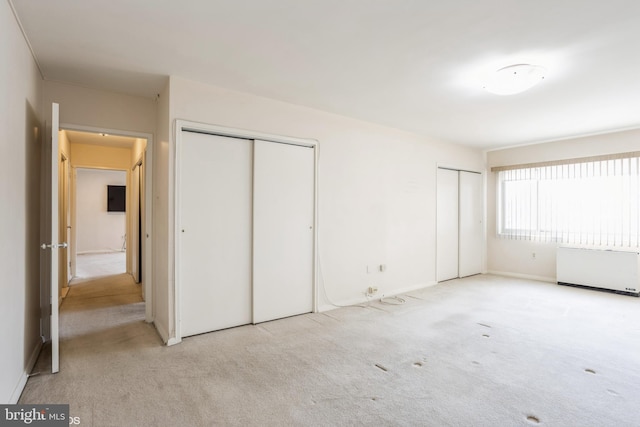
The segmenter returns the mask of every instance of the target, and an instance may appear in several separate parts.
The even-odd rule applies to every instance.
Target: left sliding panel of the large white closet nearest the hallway
[[[251,323],[252,141],[183,132],[179,156],[181,334]]]

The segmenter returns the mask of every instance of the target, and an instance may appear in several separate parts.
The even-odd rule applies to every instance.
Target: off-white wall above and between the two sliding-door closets
[[[326,292],[344,304],[363,300],[371,285],[390,294],[435,282],[436,168],[482,171],[478,150],[178,77],[171,78],[169,92],[169,111],[165,107],[163,113],[172,126],[175,119],[186,119],[319,141],[321,296]],[[168,174],[158,177],[161,183],[172,182],[173,137],[158,156],[156,172]],[[163,226],[172,250],[173,190],[168,190],[169,222]],[[159,194],[166,194],[164,188]],[[163,306],[169,308],[172,257],[166,279],[156,282],[163,298],[168,295]],[[367,265],[379,264],[387,271],[367,273]]]

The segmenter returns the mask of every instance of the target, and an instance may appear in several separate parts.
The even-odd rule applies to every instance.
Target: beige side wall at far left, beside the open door
[[[42,79],[0,2],[0,403],[15,403],[40,345]]]

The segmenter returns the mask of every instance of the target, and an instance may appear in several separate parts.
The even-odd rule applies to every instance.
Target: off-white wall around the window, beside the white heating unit
[[[609,133],[545,144],[490,151],[487,169],[493,166],[563,160],[603,154],[640,151],[640,130]],[[555,281],[556,244],[497,237],[496,174],[487,174],[487,264],[488,270]],[[536,254],[535,258],[533,253]]]

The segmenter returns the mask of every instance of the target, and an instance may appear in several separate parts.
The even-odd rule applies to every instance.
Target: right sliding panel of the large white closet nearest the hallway
[[[313,309],[314,151],[254,143],[253,323]]]

